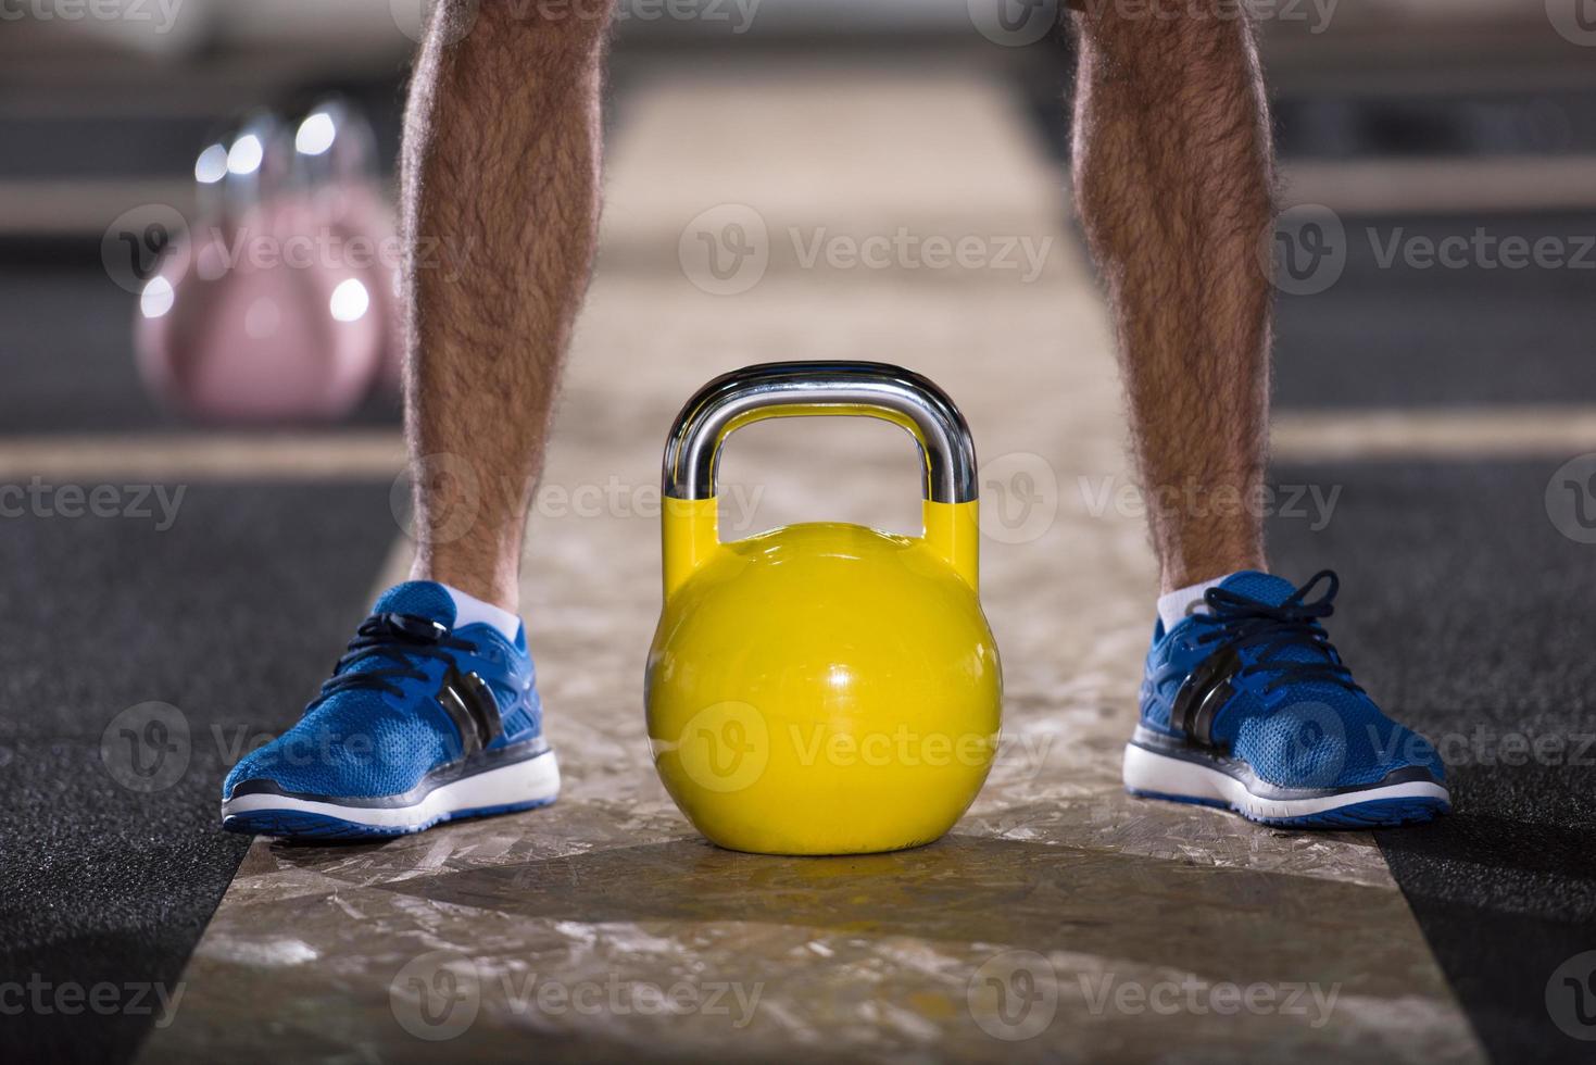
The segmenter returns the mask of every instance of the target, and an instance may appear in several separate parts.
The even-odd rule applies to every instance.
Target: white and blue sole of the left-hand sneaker
[[[228,832],[313,840],[410,835],[445,821],[536,810],[560,794],[552,750],[440,784],[407,806],[351,806],[290,795],[239,795],[222,803]]]

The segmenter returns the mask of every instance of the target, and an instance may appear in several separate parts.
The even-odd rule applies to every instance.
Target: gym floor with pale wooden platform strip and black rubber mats
[[[567,779],[544,811],[383,845],[219,830],[227,766],[292,723],[407,564],[393,412],[177,428],[139,391],[131,299],[97,262],[3,268],[0,482],[160,487],[148,517],[3,522],[0,972],[118,988],[107,1011],[8,1009],[6,1044],[117,1062],[1588,1060],[1596,1025],[1559,977],[1596,968],[1578,968],[1596,950],[1596,548],[1548,482],[1596,447],[1590,275],[1443,275],[1381,251],[1476,227],[1575,241],[1596,209],[1344,211],[1339,278],[1282,295],[1274,565],[1341,572],[1333,634],[1441,744],[1456,813],[1277,832],[1119,782],[1156,578],[1061,113],[982,70],[812,57],[640,65],[614,109],[527,548]],[[677,247],[728,219],[763,225],[771,254],[718,295]],[[804,255],[900,228],[1023,244],[1015,268]],[[932,846],[718,851],[650,763],[659,447],[699,383],[777,358],[911,366],[978,442],[1004,739]],[[752,426],[725,484],[737,533],[918,521],[891,426]],[[153,779],[121,746],[129,728],[150,742],[150,703],[179,709]]]

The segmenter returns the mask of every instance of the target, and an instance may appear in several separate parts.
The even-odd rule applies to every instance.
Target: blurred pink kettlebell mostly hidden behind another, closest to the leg
[[[361,273],[383,327],[377,383],[397,396],[404,374],[399,236],[377,164],[377,136],[342,96],[313,104],[294,133],[295,187],[338,236],[338,259]]]

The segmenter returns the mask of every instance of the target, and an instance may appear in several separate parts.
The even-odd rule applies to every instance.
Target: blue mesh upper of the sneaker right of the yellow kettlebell
[[[1208,739],[1266,782],[1357,787],[1409,766],[1441,782],[1444,770],[1428,741],[1385,717],[1329,643],[1320,623],[1333,612],[1337,584],[1328,570],[1302,588],[1269,573],[1232,573],[1208,591],[1205,612],[1168,632],[1160,621],[1141,687],[1141,723],[1184,736],[1171,720],[1181,685],[1211,655],[1229,651],[1229,695]]]

